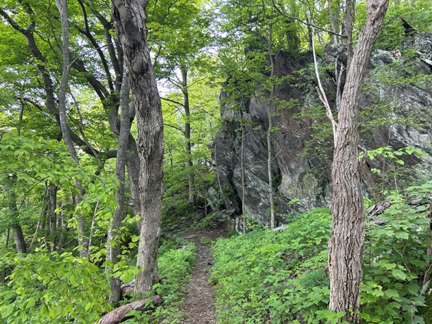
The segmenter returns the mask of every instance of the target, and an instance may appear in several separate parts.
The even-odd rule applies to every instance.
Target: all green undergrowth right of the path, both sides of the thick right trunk
[[[393,197],[379,216],[384,226],[366,223],[361,323],[423,323],[425,210]],[[330,228],[330,211],[317,208],[296,216],[283,233],[218,240],[211,273],[218,323],[337,323],[345,313],[328,310]]]

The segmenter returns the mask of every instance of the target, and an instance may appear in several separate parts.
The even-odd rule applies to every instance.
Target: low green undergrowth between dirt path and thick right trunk
[[[218,323],[289,323],[326,308],[328,209],[298,216],[283,233],[218,240],[211,281]]]

